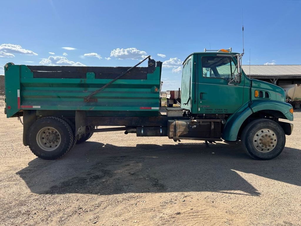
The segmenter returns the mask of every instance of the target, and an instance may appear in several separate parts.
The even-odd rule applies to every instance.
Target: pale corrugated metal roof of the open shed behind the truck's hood
[[[301,84],[301,65],[242,65],[251,78],[276,85]]]

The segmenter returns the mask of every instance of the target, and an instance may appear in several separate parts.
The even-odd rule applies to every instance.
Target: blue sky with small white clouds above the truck
[[[242,52],[242,9],[244,64],[250,49],[251,64],[301,64],[297,0],[1,2],[0,74],[7,62],[133,66],[152,55],[165,61],[163,90],[178,89],[190,53],[210,46]]]

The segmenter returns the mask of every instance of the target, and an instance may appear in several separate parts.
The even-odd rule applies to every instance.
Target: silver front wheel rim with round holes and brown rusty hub
[[[258,130],[253,137],[253,145],[259,152],[270,152],[277,145],[276,133],[271,129]]]

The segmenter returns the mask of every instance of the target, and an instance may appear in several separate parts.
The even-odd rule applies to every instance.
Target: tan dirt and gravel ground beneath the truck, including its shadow
[[[36,158],[0,102],[1,225],[301,225],[301,112],[276,159],[240,142],[175,143],[96,133],[63,158]]]

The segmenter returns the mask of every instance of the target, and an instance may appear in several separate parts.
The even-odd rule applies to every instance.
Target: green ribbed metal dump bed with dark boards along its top
[[[148,67],[135,67],[85,101],[85,97],[129,68],[8,63],[5,65],[7,117],[24,109],[83,110],[91,116],[157,116],[161,62],[156,66],[154,60],[148,61]]]

